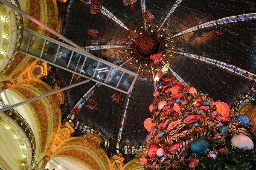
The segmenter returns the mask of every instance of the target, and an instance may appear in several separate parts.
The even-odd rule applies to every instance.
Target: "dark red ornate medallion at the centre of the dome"
[[[160,42],[156,37],[144,36],[137,41],[137,51],[140,57],[149,58],[151,55],[157,54],[159,51]]]

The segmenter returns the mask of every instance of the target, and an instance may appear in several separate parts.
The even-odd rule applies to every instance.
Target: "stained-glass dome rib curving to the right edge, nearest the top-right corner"
[[[250,20],[256,20],[256,13],[247,13],[247,14],[241,14],[241,15],[232,15],[230,17],[223,17],[216,20],[210,20],[205,23],[198,24],[196,26],[187,28],[183,31],[178,32],[177,34],[172,35],[171,37],[166,38],[163,41],[171,40],[174,37],[178,37],[187,33],[199,31],[205,28],[211,28],[216,26],[222,26],[227,24],[233,24],[233,23],[240,23]]]

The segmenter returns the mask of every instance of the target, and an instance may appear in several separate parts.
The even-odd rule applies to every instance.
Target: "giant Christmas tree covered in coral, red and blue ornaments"
[[[256,170],[256,122],[165,75],[154,92],[145,169]]]

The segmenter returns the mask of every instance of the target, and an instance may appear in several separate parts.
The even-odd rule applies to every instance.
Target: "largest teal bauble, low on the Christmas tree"
[[[193,153],[204,153],[205,150],[209,149],[210,143],[206,139],[195,139],[191,145],[190,150]]]

